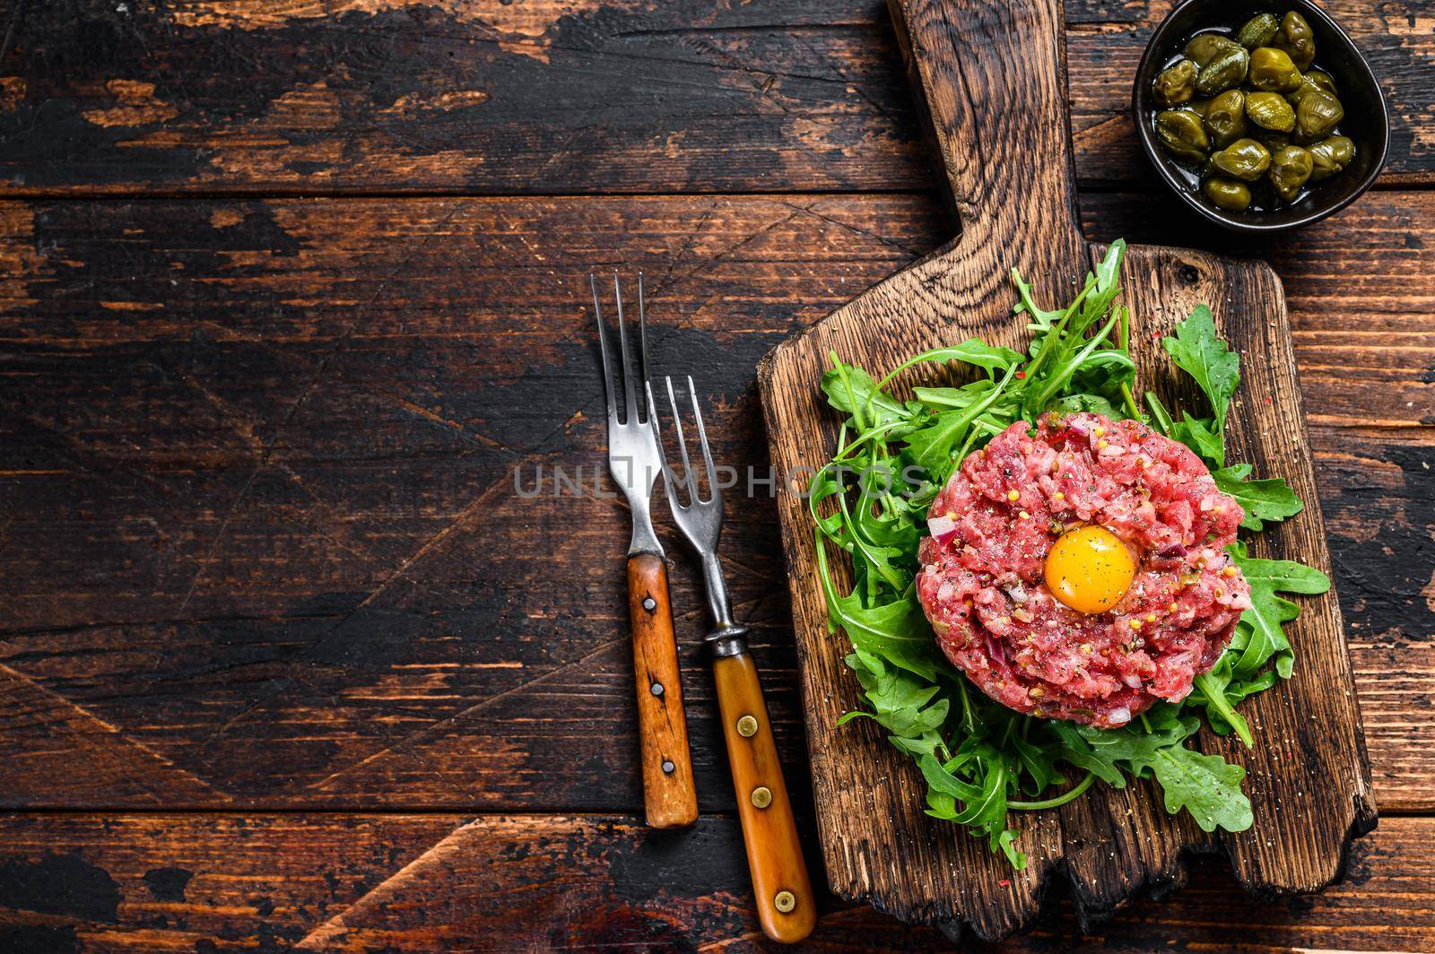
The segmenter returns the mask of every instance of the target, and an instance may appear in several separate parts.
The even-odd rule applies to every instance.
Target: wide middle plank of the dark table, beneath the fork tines
[[[0,716],[0,798],[149,803],[57,780],[113,778],[85,755],[112,726],[212,789],[133,770],[172,803],[634,808],[627,516],[551,496],[554,465],[588,488],[603,466],[585,273],[646,270],[659,364],[713,393],[720,456],[761,479],[756,360],[941,241],[934,205],[0,205],[0,664],[36,700]],[[1088,231],[1149,238],[1139,205],[1088,198]],[[1431,248],[1435,197],[1379,192],[1273,260],[1376,792],[1406,809],[1435,806]],[[531,489],[538,465],[525,501],[514,471]],[[769,489],[730,509],[725,555],[799,759]],[[700,582],[673,581],[699,793],[725,808]]]

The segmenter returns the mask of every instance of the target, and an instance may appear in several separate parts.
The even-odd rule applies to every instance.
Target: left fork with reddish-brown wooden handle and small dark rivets
[[[637,275],[639,363],[629,354],[623,321],[623,291],[613,273],[613,298],[618,314],[623,417],[618,417],[613,386],[613,362],[598,304],[598,283],[590,274],[593,313],[598,321],[598,350],[603,356],[603,389],[608,407],[608,471],[627,496],[633,514],[633,539],[627,554],[629,621],[633,628],[633,670],[637,676],[637,723],[643,759],[643,803],[651,828],[680,828],[697,819],[697,789],[687,750],[687,720],[683,714],[683,683],[673,640],[673,610],[667,598],[667,564],[653,532],[650,502],[662,466],[657,439],[649,428],[647,407],[639,407],[634,377],[641,373],[647,387],[647,316],[643,307],[643,273]]]

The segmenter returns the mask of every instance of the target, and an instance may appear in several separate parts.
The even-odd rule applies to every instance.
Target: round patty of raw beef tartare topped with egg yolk
[[[1043,415],[1035,435],[1017,422],[969,455],[937,493],[917,595],[941,651],[987,696],[1111,729],[1184,699],[1225,650],[1250,607],[1224,552],[1241,519],[1184,445],[1135,420]],[[1089,572],[1053,592],[1063,538],[1059,559],[1109,544],[1086,564],[1078,554]],[[1112,559],[1121,545],[1129,559]]]

